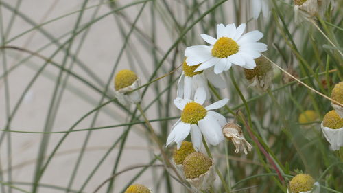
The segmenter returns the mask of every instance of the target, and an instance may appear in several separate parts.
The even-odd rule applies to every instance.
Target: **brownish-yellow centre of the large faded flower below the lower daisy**
[[[195,179],[209,171],[212,161],[201,152],[193,152],[183,161],[183,171],[187,179]]]

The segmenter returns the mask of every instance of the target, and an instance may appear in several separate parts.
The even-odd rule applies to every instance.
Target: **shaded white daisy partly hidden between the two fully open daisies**
[[[189,66],[186,63],[186,59],[184,60],[182,74],[178,80],[178,98],[191,99],[194,97],[196,89],[204,87],[206,99],[209,100],[211,95],[207,84],[208,81],[218,89],[225,89],[224,80],[213,72],[213,68],[194,72],[199,65]]]

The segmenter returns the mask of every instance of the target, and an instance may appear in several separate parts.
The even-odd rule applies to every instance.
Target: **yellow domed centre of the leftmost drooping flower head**
[[[128,69],[123,69],[115,76],[115,90],[123,89],[133,84],[138,79],[136,73]]]

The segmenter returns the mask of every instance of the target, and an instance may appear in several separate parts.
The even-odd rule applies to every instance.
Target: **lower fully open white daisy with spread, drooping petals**
[[[220,109],[228,99],[219,100],[209,106],[202,106],[206,100],[204,88],[197,89],[194,95],[194,101],[189,99],[174,99],[175,106],[182,110],[181,118],[172,127],[169,133],[167,144],[171,142],[178,144],[180,148],[182,141],[191,133],[191,139],[195,150],[200,150],[202,145],[202,135],[209,144],[216,146],[224,139],[222,127],[226,124],[226,119],[220,113],[211,111]]]

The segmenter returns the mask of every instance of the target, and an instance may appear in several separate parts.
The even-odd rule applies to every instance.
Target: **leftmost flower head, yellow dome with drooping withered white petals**
[[[133,91],[139,87],[139,78],[133,71],[124,69],[115,76],[115,97],[121,104],[127,106],[128,104],[141,101],[141,94],[139,91]],[[133,91],[132,93],[128,93]]]

